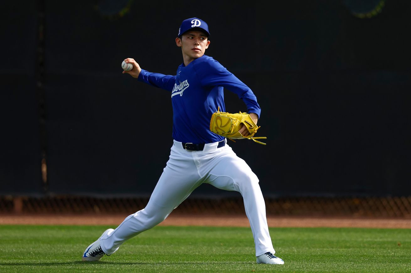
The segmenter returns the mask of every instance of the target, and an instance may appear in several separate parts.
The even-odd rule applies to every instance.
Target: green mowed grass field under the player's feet
[[[256,264],[245,227],[157,226],[82,262],[107,226],[0,225],[0,272],[411,272],[411,230],[270,228],[284,265]]]

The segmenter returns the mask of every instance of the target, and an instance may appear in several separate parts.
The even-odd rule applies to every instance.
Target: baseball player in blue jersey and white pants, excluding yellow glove
[[[257,123],[261,109],[252,90],[212,57],[204,55],[210,46],[208,25],[199,18],[183,20],[175,43],[183,63],[176,75],[151,73],[131,58],[130,71],[141,82],[169,91],[173,105],[173,145],[166,167],[146,207],[131,214],[115,229],[106,230],[85,248],[83,261],[96,261],[113,254],[126,240],[164,221],[202,183],[219,189],[238,191],[255,243],[260,264],[284,264],[276,257],[266,219],[266,207],[259,179],[247,163],[237,157],[226,138],[210,131],[210,117],[225,111],[223,89],[238,95]],[[240,132],[247,136],[245,126]]]

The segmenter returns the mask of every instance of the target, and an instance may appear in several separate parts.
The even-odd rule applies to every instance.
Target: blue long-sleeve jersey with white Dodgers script
[[[210,131],[211,115],[226,111],[224,88],[245,102],[248,113],[260,116],[261,108],[252,90],[212,57],[203,55],[187,66],[178,66],[177,75],[141,70],[138,80],[171,91],[173,139],[184,143],[222,141]]]

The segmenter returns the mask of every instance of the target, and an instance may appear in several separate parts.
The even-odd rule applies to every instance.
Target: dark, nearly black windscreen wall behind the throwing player
[[[360,19],[354,11],[379,1],[265,3],[2,4],[10,20],[21,20],[7,24],[1,46],[0,193],[150,194],[172,145],[170,96],[122,75],[120,64],[132,57],[173,75],[182,62],[178,27],[199,17],[210,27],[206,55],[261,105],[258,134],[267,145],[229,145],[266,196],[410,195],[411,5],[386,0],[376,16]],[[113,12],[122,8],[122,16]],[[246,111],[229,90],[225,96],[227,111]],[[202,185],[193,194],[233,193]]]

